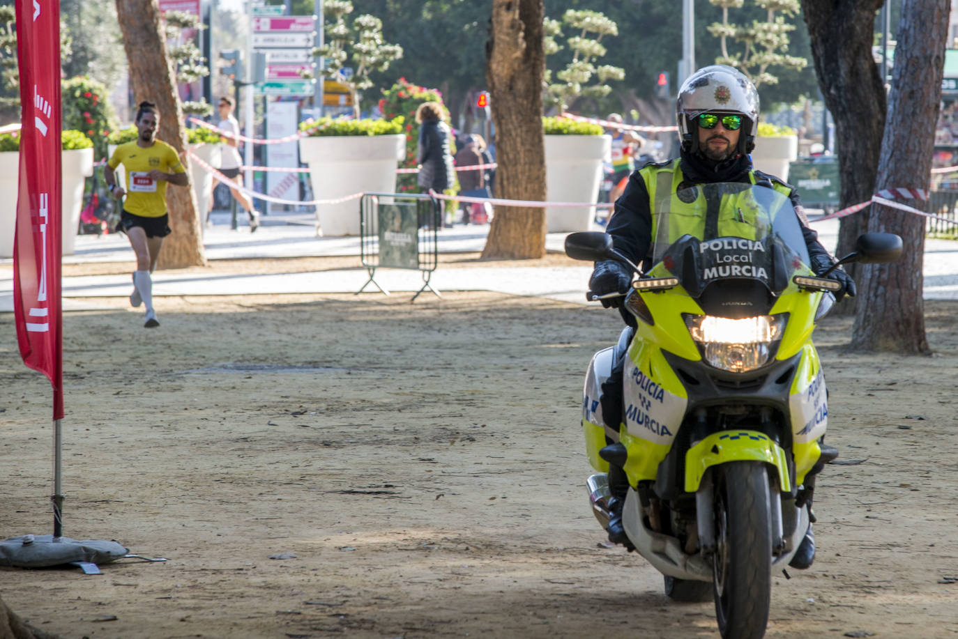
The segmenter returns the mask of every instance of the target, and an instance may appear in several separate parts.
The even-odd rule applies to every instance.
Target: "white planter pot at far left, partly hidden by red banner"
[[[93,174],[93,148],[62,151],[62,193],[60,221],[63,255],[73,255],[83,206],[83,185]],[[20,170],[19,151],[0,153],[0,193],[7,194],[7,206],[0,207],[0,258],[13,257],[13,231],[16,226],[16,195]]]

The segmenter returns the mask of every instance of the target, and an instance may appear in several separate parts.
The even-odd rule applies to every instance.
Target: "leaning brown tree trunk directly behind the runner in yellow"
[[[167,41],[164,38],[157,2],[116,0],[116,3],[134,103],[148,100],[156,104],[160,116],[160,128],[156,137],[180,153],[183,166],[189,175],[190,159],[183,153],[186,149],[183,110],[176,92],[176,79],[167,53]],[[193,188],[169,186],[167,208],[170,211],[170,228],[173,232],[163,242],[157,266],[183,268],[206,265]]]

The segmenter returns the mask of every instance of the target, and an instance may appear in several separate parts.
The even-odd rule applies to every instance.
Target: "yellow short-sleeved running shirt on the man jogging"
[[[153,141],[153,146],[140,147],[133,142],[120,145],[107,162],[110,169],[123,164],[125,169],[125,211],[135,216],[161,217],[167,212],[167,181],[151,180],[147,173],[159,169],[165,173],[185,173],[176,149],[166,142]]]

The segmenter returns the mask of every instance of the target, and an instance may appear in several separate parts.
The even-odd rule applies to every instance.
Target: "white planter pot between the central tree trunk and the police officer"
[[[546,135],[545,183],[549,202],[595,202],[602,185],[603,162],[611,161],[608,135]],[[548,207],[546,232],[588,231],[594,206]]]

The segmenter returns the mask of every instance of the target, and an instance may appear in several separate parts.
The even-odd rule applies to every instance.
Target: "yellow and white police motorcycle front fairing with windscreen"
[[[793,281],[812,272],[791,202],[765,186],[709,184],[664,198],[655,215],[642,281],[678,285],[640,281],[627,298],[638,324],[619,433],[629,483],[652,480],[660,498],[695,492],[723,459],[696,444],[741,431],[785,464],[781,489],[794,493],[818,460],[828,408],[810,342],[822,293]]]

